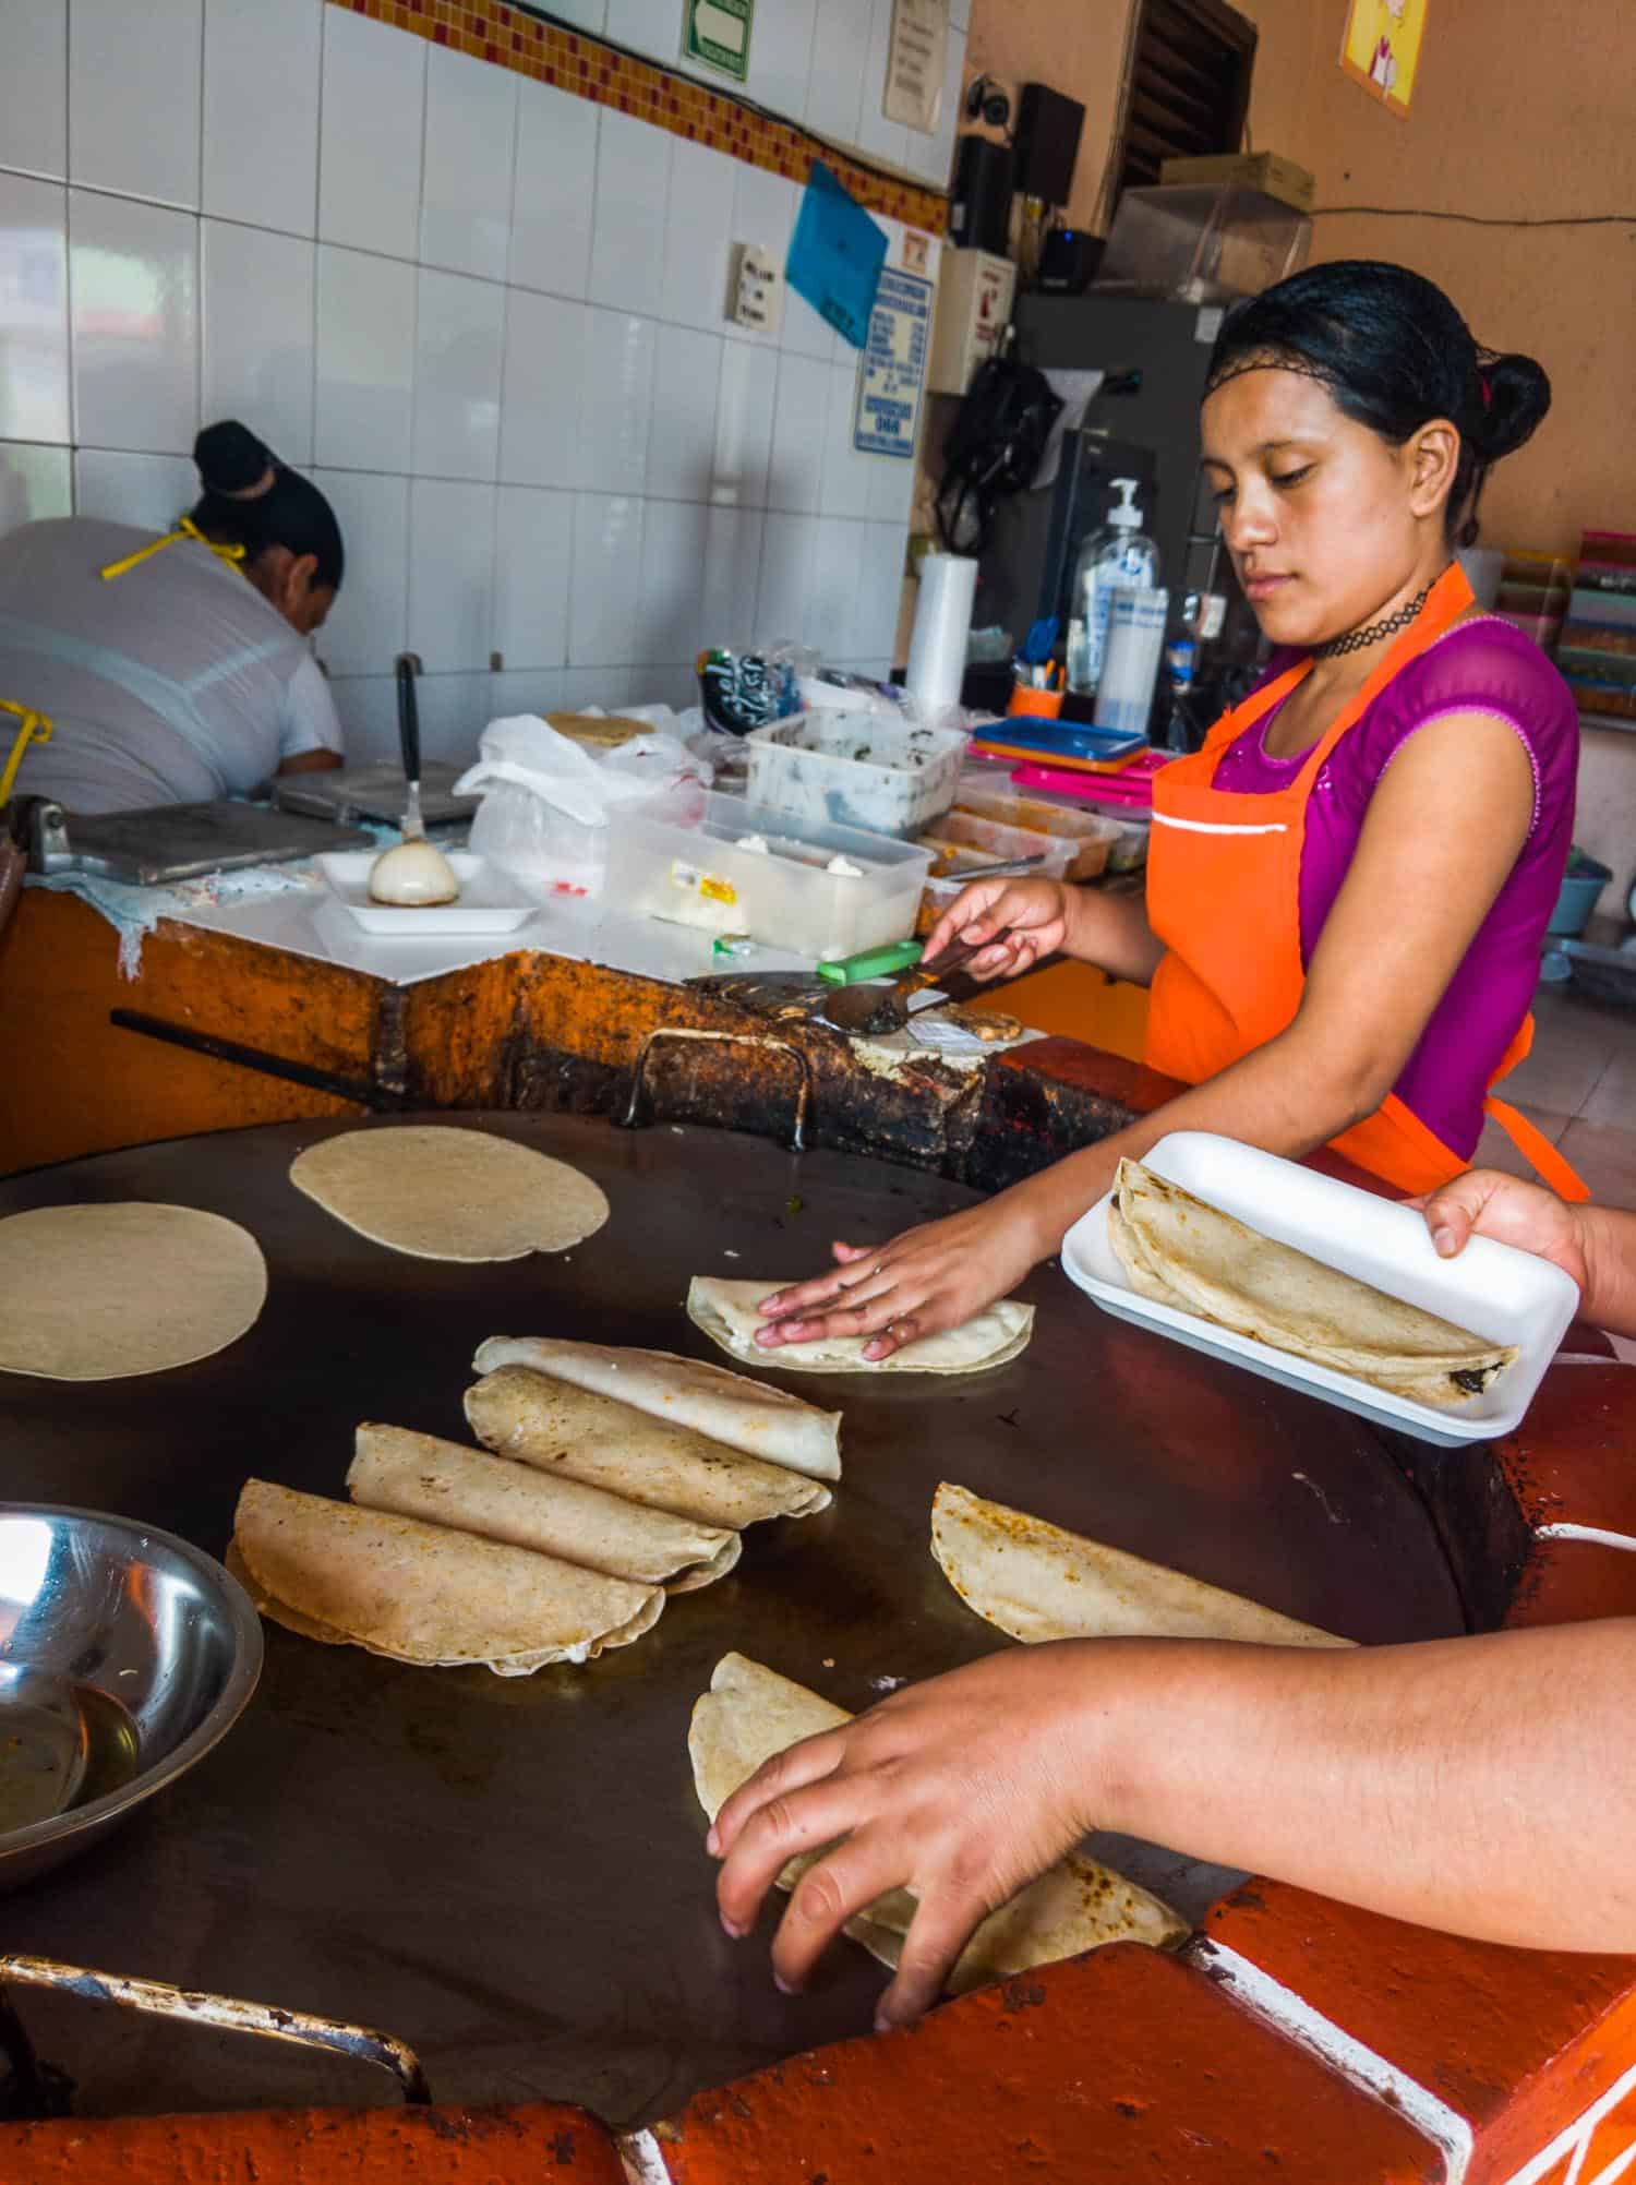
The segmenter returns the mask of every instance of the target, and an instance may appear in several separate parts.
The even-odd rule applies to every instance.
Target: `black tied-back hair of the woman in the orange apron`
[[[1448,417],[1459,428],[1459,468],[1446,527],[1459,546],[1477,538],[1490,465],[1520,448],[1551,409],[1551,380],[1531,356],[1481,350],[1435,282],[1370,258],[1308,267],[1234,304],[1206,393],[1258,365],[1321,380],[1345,417],[1394,448]]]

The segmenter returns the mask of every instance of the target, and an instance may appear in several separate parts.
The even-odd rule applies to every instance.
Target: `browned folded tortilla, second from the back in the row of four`
[[[583,1479],[651,1510],[673,1510],[699,1525],[743,1532],[762,1519],[808,1516],[830,1503],[830,1490],[804,1473],[747,1457],[692,1427],[633,1412],[529,1366],[500,1366],[467,1387],[465,1416],[496,1455]]]

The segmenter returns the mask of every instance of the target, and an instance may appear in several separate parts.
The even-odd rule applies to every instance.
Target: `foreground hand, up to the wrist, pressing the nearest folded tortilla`
[[[1088,1641],[992,1654],[911,1685],[767,1761],[716,1814],[721,1923],[743,1936],[780,1868],[834,1844],[773,1938],[780,1988],[804,1986],[854,1912],[920,1901],[876,2025],[928,2010],[972,1929],[1096,1824],[1096,1680]],[[974,1731],[981,1728],[981,1735]]]

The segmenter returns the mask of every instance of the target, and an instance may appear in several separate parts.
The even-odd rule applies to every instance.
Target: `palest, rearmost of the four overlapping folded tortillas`
[[[491,1335],[472,1368],[496,1372],[500,1366],[529,1366],[594,1396],[616,1396],[636,1412],[692,1427],[712,1442],[784,1464],[810,1479],[841,1477],[839,1412],[821,1412],[789,1390],[727,1372],[725,1366],[706,1366],[671,1350],[577,1344],[559,1335]]]

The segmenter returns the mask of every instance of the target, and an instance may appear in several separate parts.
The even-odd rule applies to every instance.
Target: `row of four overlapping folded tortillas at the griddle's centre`
[[[229,1562],[266,1617],[424,1667],[592,1661],[666,1593],[725,1578],[745,1525],[823,1510],[841,1475],[837,1412],[719,1366],[511,1337],[476,1366],[489,1446],[363,1425],[352,1503],[245,1486]]]

